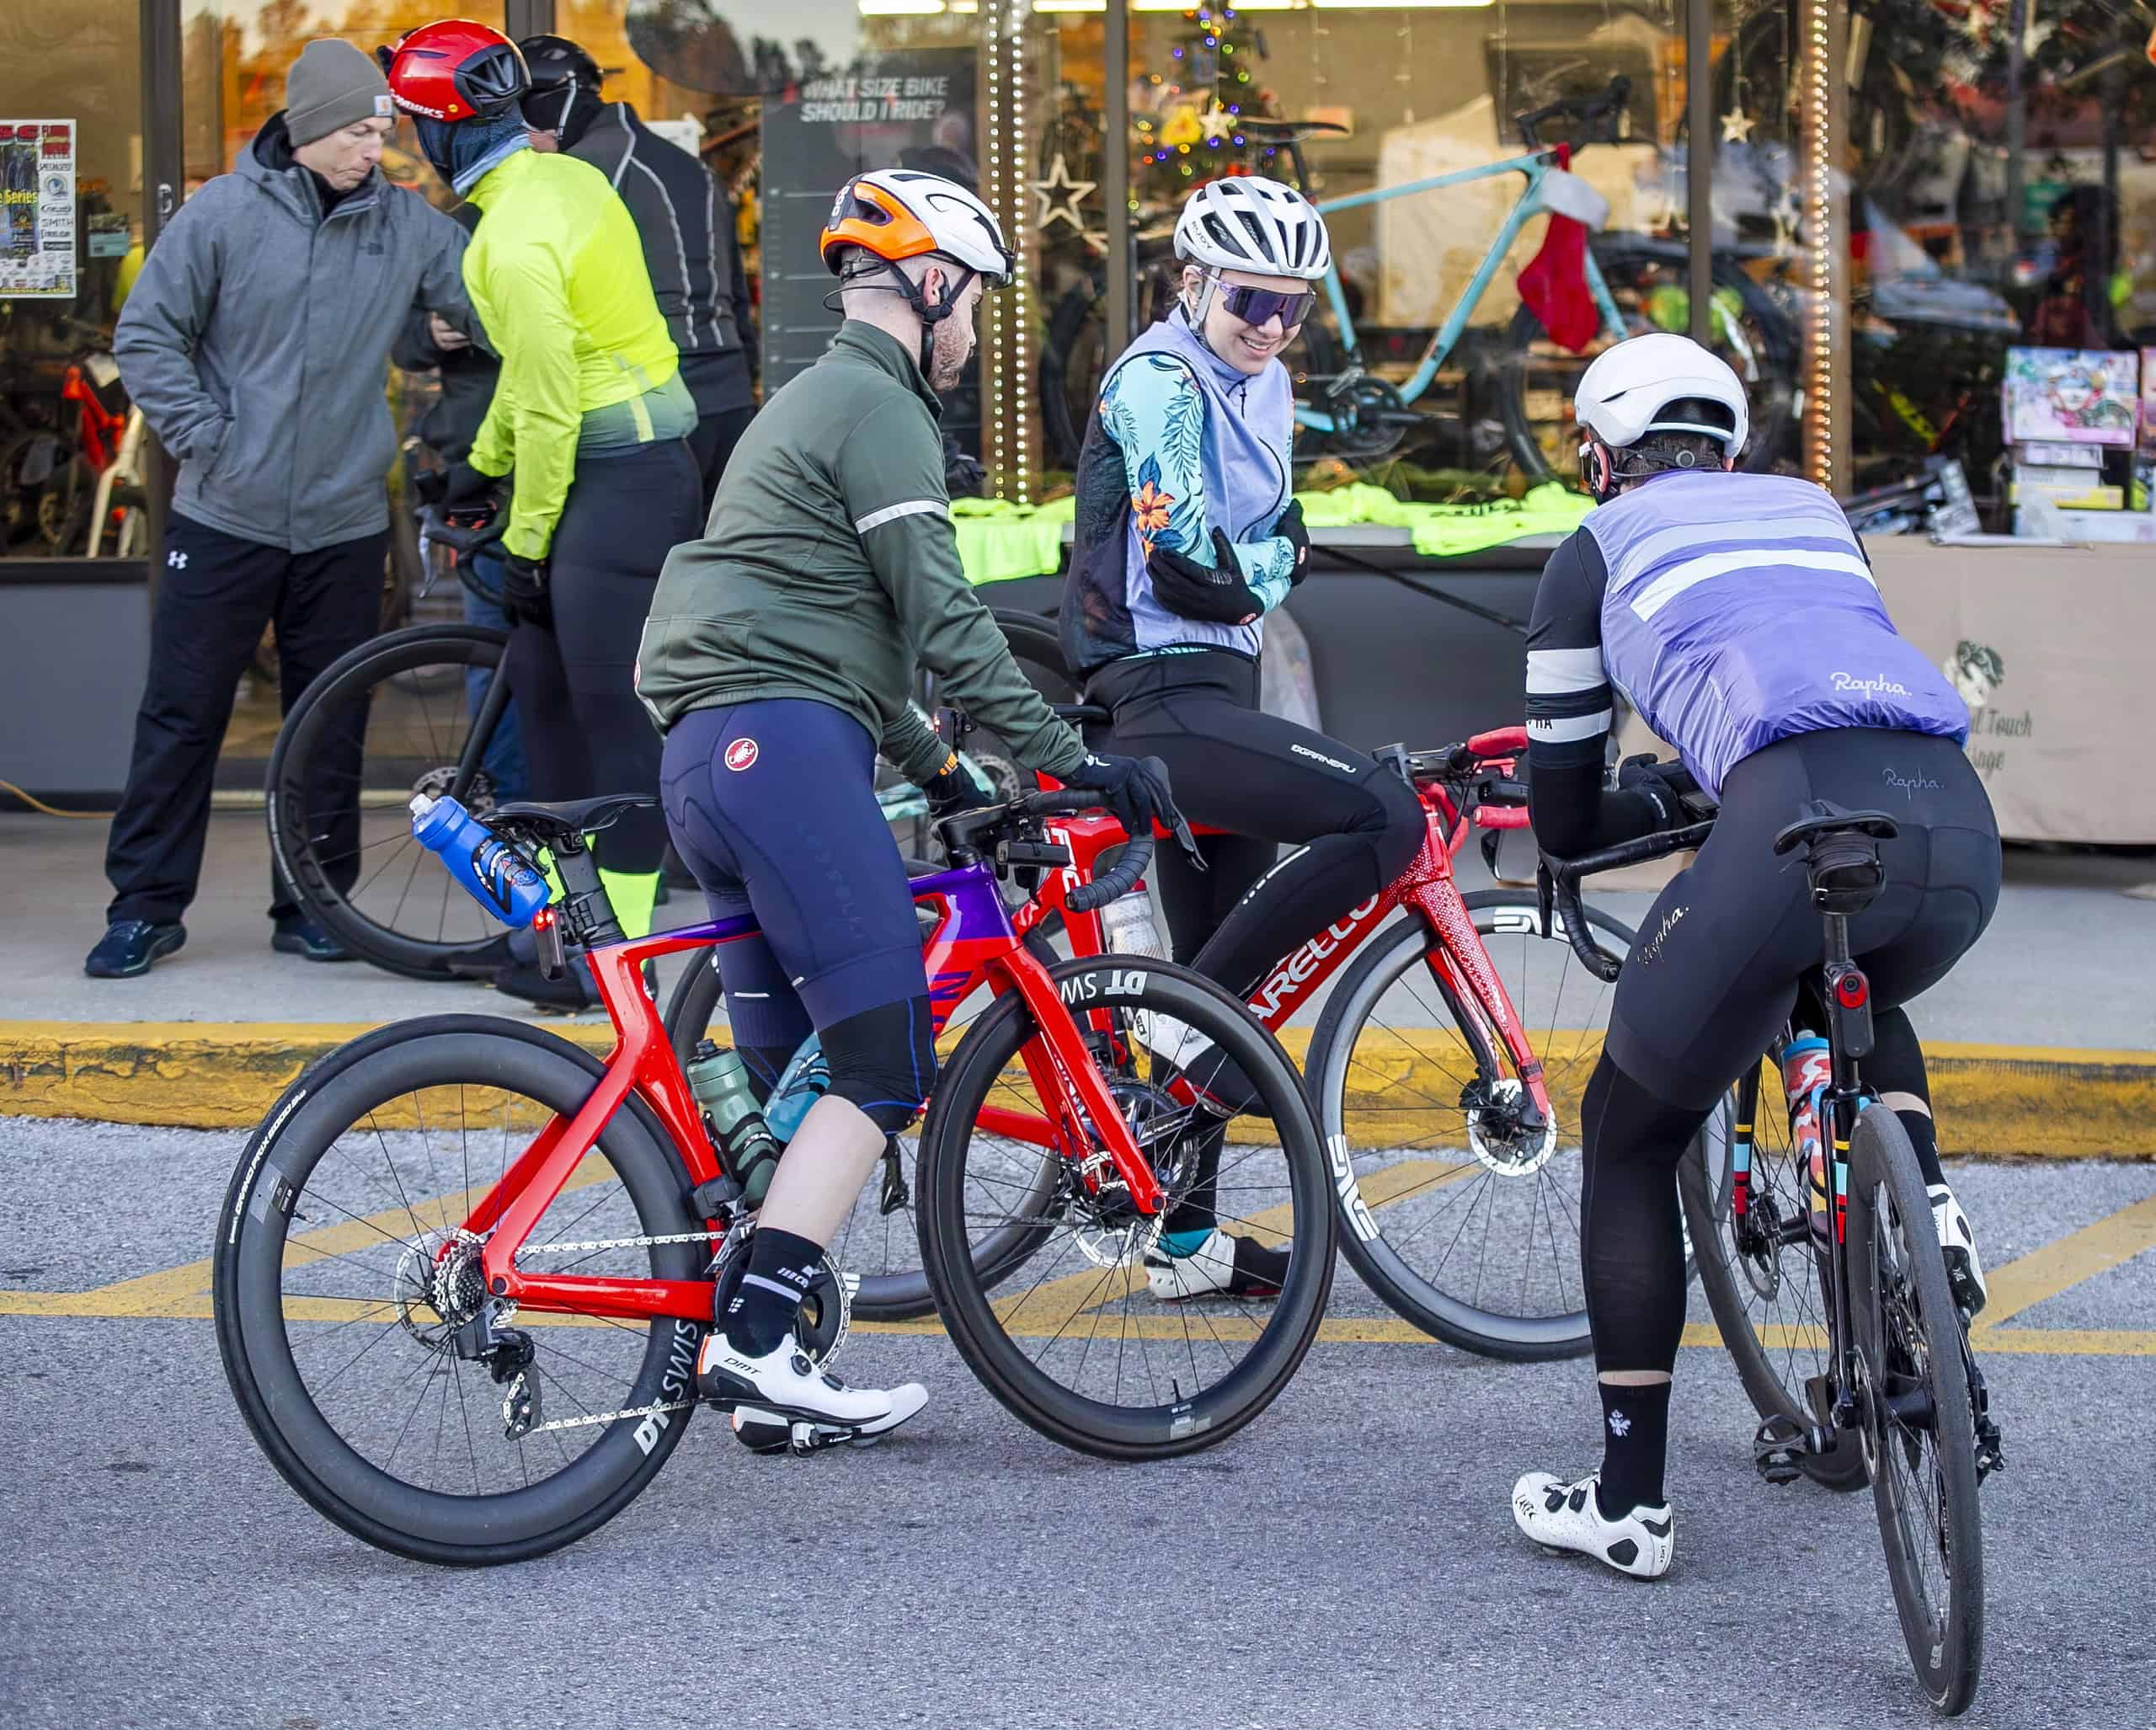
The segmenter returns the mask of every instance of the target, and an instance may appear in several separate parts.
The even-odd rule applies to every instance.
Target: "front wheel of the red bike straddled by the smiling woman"
[[[1332,1163],[1341,1249],[1395,1314],[1425,1333],[1516,1361],[1578,1357],[1580,1094],[1602,1055],[1611,986],[1595,979],[1535,897],[1464,897],[1542,1061],[1550,1120],[1503,1040],[1429,969],[1419,917],[1388,925],[1350,964],[1307,1063]],[[1604,949],[1632,928],[1587,910]]]

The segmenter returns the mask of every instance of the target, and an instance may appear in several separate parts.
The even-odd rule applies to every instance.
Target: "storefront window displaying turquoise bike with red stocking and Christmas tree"
[[[1074,28],[1063,24],[1065,41]],[[1473,503],[1565,479],[1572,384],[1593,354],[1619,330],[1688,326],[1677,0],[1134,4],[1130,71],[1141,324],[1171,304],[1175,214],[1197,186],[1270,175],[1328,207],[1339,280],[1291,352],[1307,423],[1298,459],[1319,483]],[[1498,164],[1529,155],[1522,114],[1595,99],[1606,106],[1593,121],[1554,114],[1537,127],[1542,145],[1574,145],[1572,170],[1608,201],[1589,252],[1611,302],[1576,337],[1585,345],[1565,347],[1522,306],[1518,274],[1548,224],[1516,220],[1526,177]],[[1072,173],[1097,179],[1097,157],[1087,162]],[[1498,248],[1509,220],[1516,233]],[[1561,259],[1544,270],[1559,311],[1587,304]],[[1041,287],[1041,421],[1050,466],[1067,468],[1100,384],[1104,289],[1097,272],[1087,283],[1054,261]],[[1764,459],[1774,459],[1794,410],[1794,345],[1761,332],[1764,289],[1731,280],[1727,300],[1716,345],[1766,390]]]

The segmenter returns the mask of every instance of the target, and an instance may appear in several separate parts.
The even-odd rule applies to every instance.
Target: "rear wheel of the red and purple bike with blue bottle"
[[[522,1562],[619,1514],[681,1441],[707,1322],[494,1316],[522,1387],[472,1355],[489,1312],[472,1208],[602,1074],[509,1020],[433,1016],[326,1057],[250,1137],[218,1217],[218,1350],[270,1463],[369,1544]],[[535,1223],[520,1266],[703,1277],[681,1169],[617,1111]],[[509,1402],[530,1398],[526,1428]]]

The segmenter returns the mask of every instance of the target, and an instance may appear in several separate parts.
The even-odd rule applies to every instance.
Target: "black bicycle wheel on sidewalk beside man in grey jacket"
[[[390,973],[451,979],[509,958],[500,923],[412,839],[407,809],[414,794],[451,792],[474,813],[513,796],[487,723],[507,645],[485,626],[362,643],[306,688],[270,753],[278,871],[308,917]]]

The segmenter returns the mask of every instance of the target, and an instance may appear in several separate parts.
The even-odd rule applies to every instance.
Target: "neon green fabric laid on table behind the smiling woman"
[[[1570,535],[1593,509],[1593,498],[1561,481],[1544,481],[1524,498],[1490,505],[1414,505],[1384,488],[1356,481],[1328,492],[1298,492],[1302,522],[1311,528],[1373,524],[1406,528],[1414,550],[1429,559],[1481,552],[1526,535]],[[951,526],[966,580],[1011,582],[1020,576],[1054,576],[1063,567],[1063,524],[1076,516],[1074,498],[1048,505],[1013,505],[1009,498],[953,498]],[[1324,559],[1324,548],[1317,548]]]

